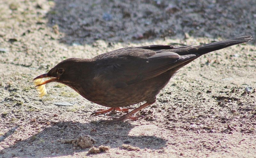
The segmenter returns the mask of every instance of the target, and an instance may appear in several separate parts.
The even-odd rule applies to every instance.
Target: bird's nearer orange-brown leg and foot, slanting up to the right
[[[134,109],[133,111],[128,112],[127,114],[124,114],[120,118],[113,119],[113,120],[104,120],[104,121],[101,121],[101,122],[105,122],[105,123],[108,123],[108,124],[118,124],[118,123],[124,122],[124,120],[126,120],[126,119],[138,120],[139,118],[143,118],[144,116],[132,117],[132,115],[134,113],[140,111],[141,109],[147,107],[148,105],[154,104],[155,102],[156,102],[156,97],[151,99],[151,100],[148,100],[145,104],[143,104],[140,107]]]

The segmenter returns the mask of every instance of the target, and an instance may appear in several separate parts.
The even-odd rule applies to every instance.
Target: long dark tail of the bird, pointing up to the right
[[[218,42],[212,42],[200,46],[191,46],[191,47],[184,47],[184,48],[177,48],[173,49],[173,52],[178,53],[180,55],[187,55],[187,54],[206,54],[215,50],[223,49],[226,47],[230,47],[236,44],[245,43],[252,40],[252,36],[240,36],[235,37],[233,39],[222,40]]]

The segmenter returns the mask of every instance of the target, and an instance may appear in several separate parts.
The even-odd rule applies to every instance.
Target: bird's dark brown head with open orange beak
[[[48,73],[39,75],[34,80],[39,78],[51,77],[37,86],[41,86],[50,82],[59,82],[66,85],[70,85],[76,81],[79,77],[81,69],[83,69],[83,59],[79,58],[69,58],[64,61],[61,61],[55,67],[53,67]],[[81,67],[82,66],[82,67]]]

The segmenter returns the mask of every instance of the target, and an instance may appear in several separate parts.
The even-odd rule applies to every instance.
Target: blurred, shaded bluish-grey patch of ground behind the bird
[[[255,0],[54,0],[48,25],[58,25],[62,42],[97,39],[232,38],[254,35]],[[255,40],[254,40],[255,42]]]

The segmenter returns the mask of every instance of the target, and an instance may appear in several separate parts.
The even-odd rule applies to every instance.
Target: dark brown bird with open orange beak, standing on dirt
[[[122,117],[107,120],[107,122],[137,120],[140,116],[132,117],[132,115],[155,103],[156,95],[177,70],[203,54],[248,42],[252,40],[251,37],[241,36],[195,47],[168,45],[126,47],[92,59],[70,58],[61,61],[48,73],[36,77],[35,79],[52,77],[36,86],[50,82],[63,83],[89,101],[110,107],[108,110],[93,114],[112,110],[128,112],[133,108],[121,109],[120,107],[146,101],[145,104]]]

